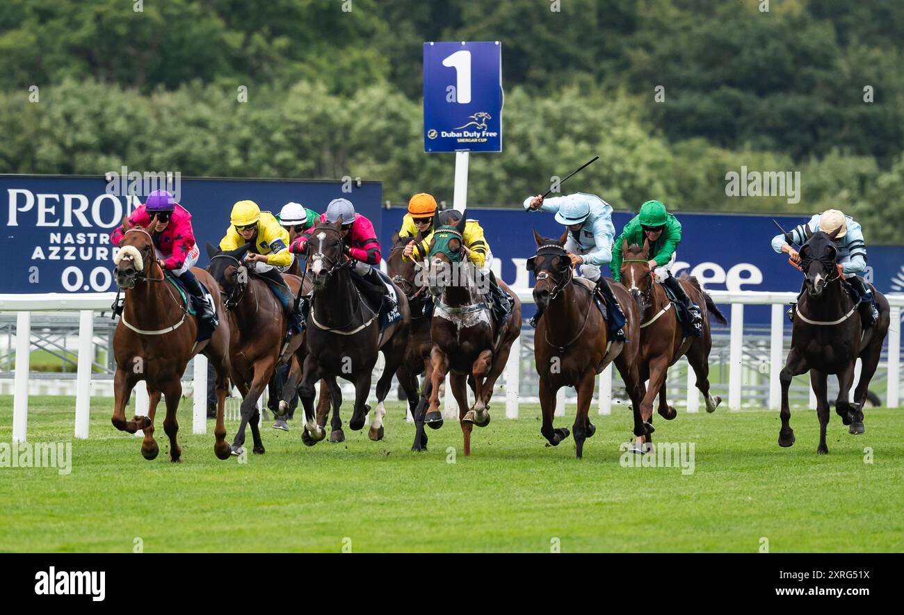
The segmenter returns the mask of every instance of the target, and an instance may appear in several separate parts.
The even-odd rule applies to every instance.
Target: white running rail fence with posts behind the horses
[[[519,298],[523,303],[532,302],[531,289],[517,289]],[[744,306],[745,305],[771,305],[771,330],[769,351],[769,396],[768,407],[777,409],[780,404],[781,389],[778,382],[778,374],[784,367],[785,357],[784,343],[784,318],[786,304],[796,298],[795,293],[771,293],[758,291],[710,291],[715,303],[730,304],[730,368],[729,368],[729,396],[728,406],[730,410],[740,410],[742,379],[742,341],[744,335]],[[94,312],[108,311],[110,303],[116,295],[114,293],[94,294],[43,294],[43,295],[15,295],[0,294],[0,311],[17,312],[16,336],[15,336],[15,373],[14,373],[14,403],[13,403],[13,440],[24,442],[28,428],[28,377],[31,339],[31,312],[40,311],[77,311],[80,312],[79,327],[79,359],[76,376],[76,404],[75,404],[75,437],[87,438],[89,431],[89,401],[91,387],[91,357],[92,337],[94,332]],[[886,405],[899,407],[899,383],[900,383],[900,319],[901,308],[904,307],[904,294],[887,295],[891,304],[891,327],[888,337],[888,383]],[[521,340],[516,340],[511,352],[509,363],[504,372],[505,389],[505,415],[508,418],[518,418],[518,406],[521,400],[519,396],[519,384],[521,382]],[[207,360],[203,357],[196,358],[193,368],[194,390],[193,396],[193,432],[204,433],[206,431],[206,396],[204,392],[207,386]],[[448,389],[447,389],[448,390]],[[565,390],[560,390],[557,414],[564,414]],[[136,387],[136,408],[147,407],[146,387]],[[811,391],[811,407],[815,407],[815,397]],[[692,369],[687,370],[686,382],[686,409],[688,412],[698,412],[700,406],[700,394],[695,387],[695,378]],[[599,375],[598,412],[601,415],[610,414],[612,410],[612,366],[606,368]],[[137,410],[140,414],[140,410]],[[457,407],[451,395],[446,396],[444,414],[457,415]]]

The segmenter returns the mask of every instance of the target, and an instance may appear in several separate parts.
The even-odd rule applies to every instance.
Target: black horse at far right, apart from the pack
[[[806,230],[809,231],[809,228]],[[809,370],[810,383],[816,395],[816,415],[819,416],[819,446],[816,448],[819,454],[829,452],[825,445],[825,429],[829,424],[826,392],[829,374],[838,377],[835,412],[842,417],[843,424],[850,425],[849,433],[863,433],[863,405],[870,380],[879,365],[882,342],[890,323],[888,299],[872,284],[866,283],[876,298],[879,320],[863,331],[857,303],[846,289],[841,266],[835,262],[838,248],[834,246],[833,239],[837,233],[837,230],[831,235],[823,231],[812,233],[800,249],[805,292],[797,303],[791,329],[791,350],[778,377],[782,385],[782,426],[778,432],[778,444],[791,446],[795,443],[794,430],[788,424],[791,418],[788,387],[792,377]],[[862,370],[851,403],[849,393],[858,357],[862,360]]]

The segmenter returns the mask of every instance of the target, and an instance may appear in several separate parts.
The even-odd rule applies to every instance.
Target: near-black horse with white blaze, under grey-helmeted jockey
[[[308,446],[324,439],[328,408],[328,405],[321,403],[315,415],[314,383],[323,378],[329,385],[333,394],[334,422],[338,420],[338,406],[342,402],[341,396],[337,398],[336,395],[339,392],[336,377],[354,384],[354,410],[349,427],[358,431],[364,426],[365,415],[370,412],[366,401],[379,352],[383,353],[385,368],[377,381],[378,404],[368,436],[371,440],[382,439],[383,416],[386,414],[383,400],[408,345],[410,313],[405,295],[395,286],[401,318],[380,331],[378,312],[365,302],[353,283],[354,261],[345,256],[341,230],[341,217],[333,224],[320,222],[306,244],[314,294],[307,319],[307,355],[298,396],[306,415],[301,439]],[[335,423],[333,428],[335,430]]]

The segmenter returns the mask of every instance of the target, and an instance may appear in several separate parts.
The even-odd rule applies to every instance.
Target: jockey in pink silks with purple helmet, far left
[[[160,265],[178,277],[185,290],[198,299],[201,320],[216,326],[216,309],[207,301],[201,284],[192,273],[192,267],[200,256],[194,243],[192,214],[176,203],[172,194],[158,190],[151,192],[145,204],[139,205],[132,212],[128,223],[133,227],[145,228],[150,233]],[[125,228],[119,227],[110,235],[110,241],[118,246],[125,234]],[[120,311],[121,308],[118,308],[117,312]]]

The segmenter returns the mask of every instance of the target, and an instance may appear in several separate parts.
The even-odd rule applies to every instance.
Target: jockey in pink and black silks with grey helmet
[[[392,312],[396,302],[388,293],[380,275],[380,242],[377,241],[371,220],[355,213],[352,201],[334,199],[326,206],[326,212],[318,221],[333,224],[340,217],[342,229],[339,234],[343,238],[345,256],[354,261],[353,272],[360,276],[366,286],[363,290],[372,298],[373,303],[381,303],[385,305],[386,312]],[[295,254],[304,254],[313,234],[314,227],[308,228],[292,242],[289,250]]]

